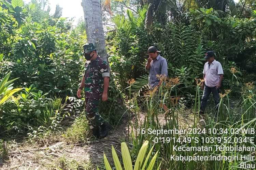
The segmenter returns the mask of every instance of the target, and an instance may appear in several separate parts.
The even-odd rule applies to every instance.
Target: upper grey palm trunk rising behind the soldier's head
[[[93,43],[101,58],[108,62],[102,25],[100,0],[82,0],[87,42]]]

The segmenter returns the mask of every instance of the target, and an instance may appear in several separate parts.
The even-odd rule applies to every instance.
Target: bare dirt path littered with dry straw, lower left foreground
[[[103,169],[103,152],[112,162],[111,146],[120,154],[120,143],[127,135],[127,121],[123,120],[117,129],[112,129],[109,136],[100,140],[79,144],[68,144],[60,140],[48,147],[17,144],[15,150],[9,151],[7,161],[0,158],[0,169]],[[18,146],[20,145],[20,146]]]

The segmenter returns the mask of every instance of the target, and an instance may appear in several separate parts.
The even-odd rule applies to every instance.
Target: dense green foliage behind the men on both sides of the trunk
[[[250,17],[231,17],[203,8],[208,6],[184,3],[176,4],[179,13],[167,3],[172,15],[162,17],[164,21],[154,16],[151,27],[146,27],[149,5],[132,4],[137,4],[137,11],[115,13],[115,27],[106,34],[112,76],[109,101],[101,103],[101,114],[111,124],[119,121],[128,80],[136,79],[132,91],[141,94],[147,89],[144,66],[152,45],[167,59],[169,77],[179,77],[175,95],[183,97],[187,107],[193,104],[195,79],[202,77],[202,58],[208,50],[214,50],[223,65],[223,89],[236,92],[243,82],[255,81],[255,11]],[[50,15],[44,5],[36,0],[29,4],[0,0],[0,79],[11,72],[10,79],[19,78],[13,86],[24,88],[0,108],[2,132],[34,132],[40,126],[56,129],[63,119],[83,111],[83,99],[76,99],[76,91],[84,70],[85,24],[80,20],[73,27],[72,20],[57,15],[60,11]]]

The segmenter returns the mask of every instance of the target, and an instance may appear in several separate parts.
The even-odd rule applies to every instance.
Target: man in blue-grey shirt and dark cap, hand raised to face
[[[147,64],[145,66],[145,69],[146,71],[149,71],[148,85],[150,86],[150,89],[159,87],[162,84],[162,82],[156,77],[157,74],[168,77],[167,61],[165,58],[160,56],[159,53],[160,51],[158,51],[154,46],[149,47],[147,50],[147,54],[149,55],[149,57],[147,59]],[[158,90],[156,92],[157,95],[159,93]],[[165,111],[168,111],[167,106],[165,104],[162,104],[161,102],[160,102],[160,107],[163,107]]]

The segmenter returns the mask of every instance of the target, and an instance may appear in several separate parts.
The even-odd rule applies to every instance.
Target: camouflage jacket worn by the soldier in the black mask
[[[103,78],[109,77],[108,63],[99,55],[93,61],[85,63],[85,97],[101,98],[103,92]]]

